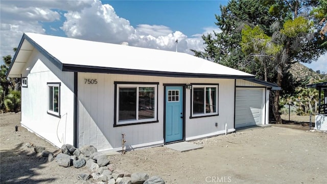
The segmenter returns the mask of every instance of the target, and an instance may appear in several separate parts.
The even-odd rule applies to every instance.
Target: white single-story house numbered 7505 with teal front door
[[[61,147],[121,150],[268,124],[279,87],[189,54],[25,33],[7,73],[21,125]]]

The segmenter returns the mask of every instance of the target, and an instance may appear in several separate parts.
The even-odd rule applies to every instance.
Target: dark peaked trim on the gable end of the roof
[[[54,56],[52,56],[49,52],[47,52],[46,50],[44,50],[39,44],[37,44],[34,40],[32,40],[30,37],[28,37],[25,33],[22,35],[21,37],[21,40],[19,42],[19,45],[18,45],[18,48],[17,48],[17,51],[12,59],[12,62],[10,63],[10,66],[9,66],[9,69],[8,69],[8,72],[6,74],[6,77],[8,77],[9,75],[9,72],[16,60],[16,57],[19,53],[19,50],[21,48],[21,45],[22,43],[24,42],[24,40],[27,40],[29,43],[31,43],[33,45],[33,47],[38,50],[41,54],[43,54],[47,59],[49,59],[54,65],[56,65],[60,70],[62,70],[62,63],[57,59],[55,58]]]

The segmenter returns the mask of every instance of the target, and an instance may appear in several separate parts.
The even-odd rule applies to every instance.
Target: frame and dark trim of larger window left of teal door
[[[157,123],[158,121],[158,82],[114,82],[114,123],[113,127],[137,125],[145,123]],[[136,88],[136,119],[119,120],[119,90],[120,88]],[[139,87],[154,87],[154,118],[138,119]]]

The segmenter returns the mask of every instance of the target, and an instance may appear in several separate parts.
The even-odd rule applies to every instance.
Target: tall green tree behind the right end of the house
[[[285,89],[293,85],[283,86],[293,63],[310,63],[327,50],[326,39],[317,31],[324,25],[311,16],[317,8],[323,12],[324,5],[325,0],[232,0],[220,7],[221,15],[216,15],[216,25],[222,32],[203,35],[206,48],[195,52],[196,56],[254,74]],[[283,93],[273,93],[276,123],[282,123],[279,97]]]

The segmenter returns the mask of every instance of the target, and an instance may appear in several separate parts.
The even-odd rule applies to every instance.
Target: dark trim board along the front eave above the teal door
[[[103,73],[103,74],[145,75],[145,76],[161,76],[161,77],[224,78],[224,79],[253,78],[253,76],[162,72],[162,71],[135,70],[135,69],[128,69],[128,68],[113,68],[113,67],[87,66],[87,65],[75,65],[75,64],[63,64],[62,71]]]

